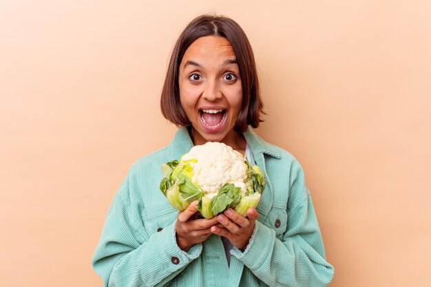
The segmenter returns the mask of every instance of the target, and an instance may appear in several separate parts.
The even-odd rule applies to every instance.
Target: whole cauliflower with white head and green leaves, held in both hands
[[[221,142],[196,145],[180,159],[162,164],[160,191],[183,211],[199,200],[198,211],[211,218],[232,207],[241,215],[256,207],[266,184],[257,165]]]

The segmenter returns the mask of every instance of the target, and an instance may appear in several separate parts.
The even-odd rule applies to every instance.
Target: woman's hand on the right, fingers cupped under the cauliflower
[[[217,216],[217,220],[222,226],[211,226],[211,232],[227,237],[234,246],[244,250],[249,244],[259,213],[255,209],[249,209],[247,216],[248,218],[236,213],[233,209],[227,209]]]

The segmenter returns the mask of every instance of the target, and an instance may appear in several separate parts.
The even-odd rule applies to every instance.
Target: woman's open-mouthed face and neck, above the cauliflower
[[[217,141],[235,149],[238,137],[242,137],[233,131],[242,86],[231,43],[220,36],[203,36],[191,43],[180,63],[178,84],[182,108],[192,125],[193,143]]]

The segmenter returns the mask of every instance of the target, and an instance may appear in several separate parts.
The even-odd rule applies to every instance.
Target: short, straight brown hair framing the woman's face
[[[245,131],[248,125],[258,127],[262,122],[263,103],[260,98],[259,81],[257,79],[253,50],[246,34],[232,19],[223,16],[202,15],[187,25],[175,44],[169,61],[165,84],[160,98],[160,108],[167,120],[177,126],[191,125],[189,118],[180,103],[180,87],[178,70],[187,48],[202,36],[222,36],[233,47],[237,57],[242,83],[242,105],[234,131]]]

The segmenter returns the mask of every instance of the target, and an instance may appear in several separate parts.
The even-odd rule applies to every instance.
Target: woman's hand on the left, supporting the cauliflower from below
[[[209,220],[195,220],[198,201],[191,202],[189,207],[178,213],[175,228],[176,242],[182,251],[188,251],[193,244],[204,242],[211,235],[211,226],[217,225],[217,217]]]

